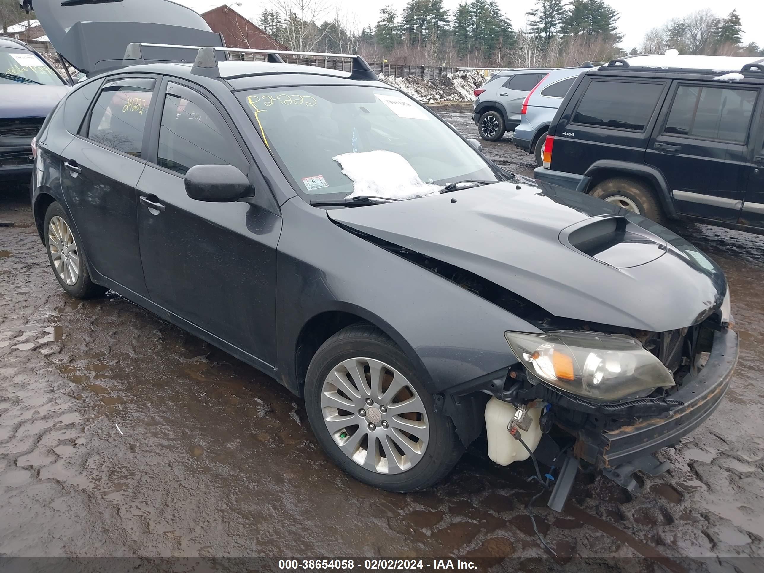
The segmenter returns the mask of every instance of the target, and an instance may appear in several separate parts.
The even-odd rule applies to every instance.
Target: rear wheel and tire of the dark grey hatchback
[[[76,299],[90,299],[105,293],[105,288],[91,280],[82,241],[59,202],[50,203],[45,212],[44,229],[48,261],[61,288]]]

